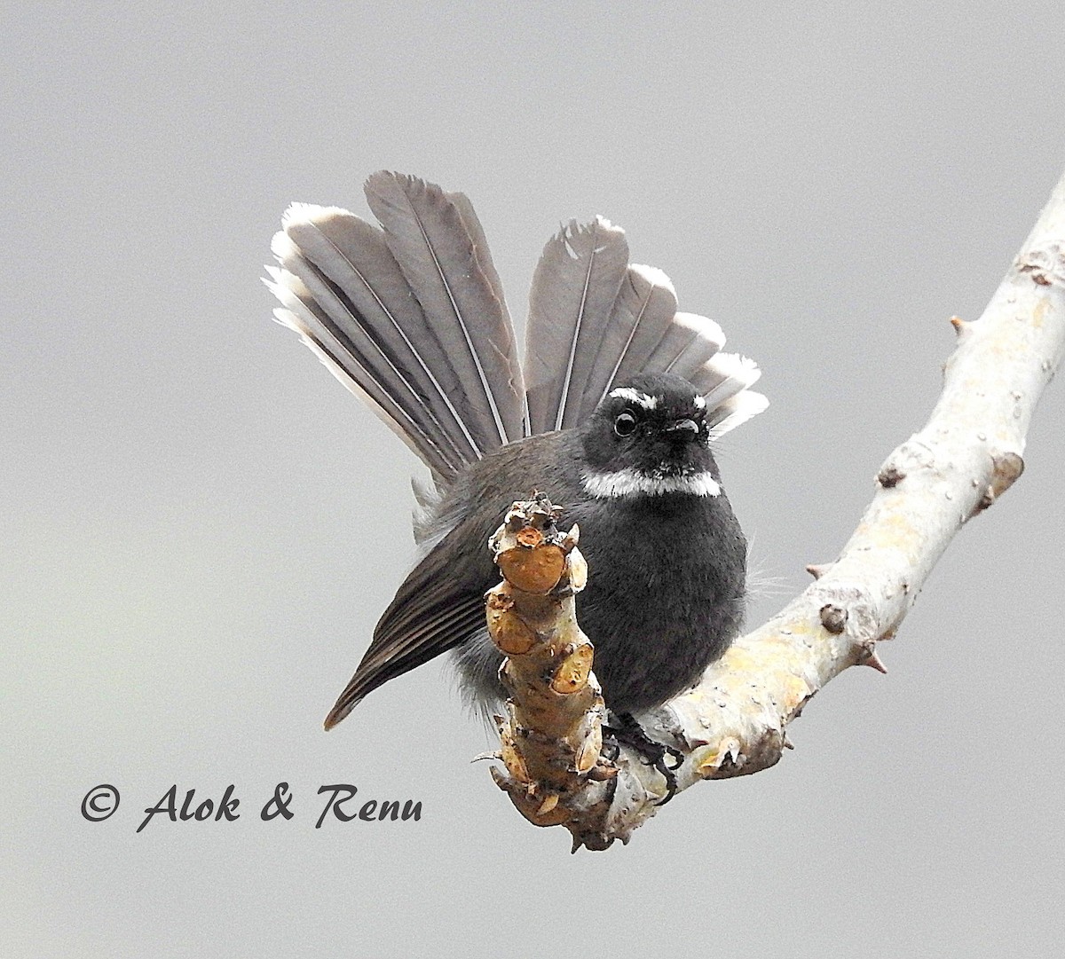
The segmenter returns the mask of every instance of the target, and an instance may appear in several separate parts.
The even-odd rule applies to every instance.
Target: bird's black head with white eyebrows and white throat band
[[[596,498],[721,493],[706,401],[681,377],[644,374],[611,390],[581,440],[585,489]]]

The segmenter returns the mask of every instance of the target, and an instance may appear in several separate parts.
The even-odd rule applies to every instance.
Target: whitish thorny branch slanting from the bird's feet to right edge
[[[895,634],[958,529],[1020,476],[1032,413],[1065,349],[1065,177],[981,318],[951,321],[957,345],[939,401],[885,460],[839,558],[810,567],[816,582],[737,640],[697,689],[642,717],[685,754],[679,789],[773,765],[787,724],[830,679],[862,663],[883,668],[875,644]],[[587,782],[583,801],[571,800],[578,845],[627,841],[655,813],[662,777],[627,751],[619,764],[615,780]]]

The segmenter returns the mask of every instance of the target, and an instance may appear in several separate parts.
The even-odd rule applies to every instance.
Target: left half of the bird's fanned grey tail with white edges
[[[267,281],[275,315],[446,482],[524,432],[499,278],[462,194],[384,172],[366,191],[383,231],[338,208],[289,208]]]

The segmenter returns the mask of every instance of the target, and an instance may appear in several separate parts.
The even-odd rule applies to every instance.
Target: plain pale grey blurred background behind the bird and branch
[[[291,200],[364,214],[381,167],[466,192],[519,320],[561,220],[624,226],[765,370],[721,457],[758,622],[835,556],[1065,164],[1060,0],[662,6],[9,10],[4,955],[1055,954],[1061,384],[890,675],[627,847],[522,820],[440,664],[322,731],[412,562],[416,464],[271,323]],[[261,822],[281,780],[296,814]],[[423,819],[315,829],[331,782]],[[135,833],[229,783],[237,822]]]

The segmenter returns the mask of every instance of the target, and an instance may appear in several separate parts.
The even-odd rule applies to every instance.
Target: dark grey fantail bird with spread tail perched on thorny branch
[[[506,694],[487,634],[498,582],[486,547],[542,492],[580,529],[577,617],[607,708],[623,717],[697,683],[738,634],[747,542],[714,444],[768,400],[720,326],[678,312],[661,270],[629,262],[603,217],[570,220],[536,267],[524,360],[484,229],[464,194],[381,170],[373,224],[293,203],[264,280],[296,331],[413,450],[421,559],[325,721],[450,651],[486,714]]]

